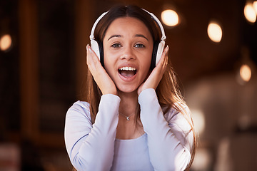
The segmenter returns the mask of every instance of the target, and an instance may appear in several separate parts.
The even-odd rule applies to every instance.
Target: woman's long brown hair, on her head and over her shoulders
[[[97,24],[94,37],[98,43],[102,43],[104,40],[105,33],[109,28],[110,24],[120,17],[133,17],[139,19],[143,22],[148,28],[153,37],[153,44],[161,41],[161,31],[154,21],[146,11],[142,10],[138,6],[116,6],[109,10],[109,12],[99,21]],[[102,45],[101,45],[102,46]],[[99,103],[101,99],[101,90],[99,86],[97,86],[94,81],[93,76],[90,71],[87,72],[87,80],[86,80],[86,101],[90,104],[90,113],[92,123],[95,122],[96,114],[98,113]],[[168,59],[168,66],[166,68],[165,73],[163,74],[163,78],[161,79],[158,87],[156,88],[156,95],[158,97],[158,102],[160,103],[162,108],[166,110],[164,113],[168,112],[172,107],[176,108],[176,110],[183,113],[184,117],[188,120],[188,123],[191,125],[191,130],[193,131],[193,150],[191,151],[192,157],[190,165],[188,165],[188,169],[193,162],[193,157],[195,154],[195,145],[196,145],[196,137],[194,133],[193,120],[191,119],[191,114],[186,110],[183,110],[183,106],[185,106],[185,102],[183,101],[183,97],[178,89],[178,83],[176,81],[175,73],[173,72],[173,68],[171,66],[171,61]],[[137,118],[139,119],[140,109],[137,113]]]

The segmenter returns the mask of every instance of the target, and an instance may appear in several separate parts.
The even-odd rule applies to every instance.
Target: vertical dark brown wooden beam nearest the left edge
[[[19,1],[21,134],[29,139],[38,135],[39,76],[36,2]]]

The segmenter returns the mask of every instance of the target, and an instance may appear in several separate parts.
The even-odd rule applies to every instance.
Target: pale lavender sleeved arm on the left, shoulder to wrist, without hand
[[[65,142],[76,170],[110,170],[119,103],[120,98],[116,95],[102,95],[94,125],[91,123],[88,103],[74,103],[68,110]]]

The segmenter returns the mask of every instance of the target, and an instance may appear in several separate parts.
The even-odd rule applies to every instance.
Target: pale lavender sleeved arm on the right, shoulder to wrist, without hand
[[[152,88],[143,90],[138,102],[154,169],[185,170],[191,160],[193,146],[193,133],[186,118],[176,110],[166,113],[165,118]]]

